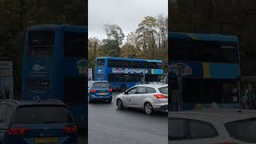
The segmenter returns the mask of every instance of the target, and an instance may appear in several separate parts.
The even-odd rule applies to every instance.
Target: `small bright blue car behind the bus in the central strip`
[[[106,101],[112,102],[112,89],[107,81],[91,81],[88,84],[89,102]]]

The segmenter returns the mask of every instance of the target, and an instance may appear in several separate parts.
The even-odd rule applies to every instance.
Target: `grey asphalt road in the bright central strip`
[[[89,144],[166,144],[168,142],[168,114],[146,115],[142,110],[117,110],[116,95],[112,103],[88,104]],[[78,144],[86,144],[78,135]]]

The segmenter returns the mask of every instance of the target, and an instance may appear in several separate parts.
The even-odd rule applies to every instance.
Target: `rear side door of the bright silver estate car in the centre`
[[[142,107],[142,99],[146,96],[146,86],[138,86],[138,90],[131,100],[131,105],[134,107]]]

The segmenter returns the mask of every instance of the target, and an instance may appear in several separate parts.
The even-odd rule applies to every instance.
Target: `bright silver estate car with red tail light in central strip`
[[[155,83],[136,85],[118,94],[116,105],[119,110],[134,107],[153,114],[155,110],[168,109],[168,85]]]

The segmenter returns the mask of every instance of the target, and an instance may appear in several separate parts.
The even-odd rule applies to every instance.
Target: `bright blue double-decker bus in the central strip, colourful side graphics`
[[[113,90],[126,90],[140,82],[160,82],[162,73],[162,60],[100,57],[94,78],[110,82]]]

